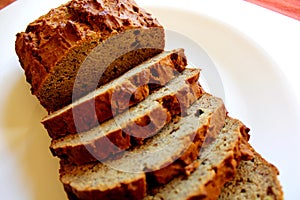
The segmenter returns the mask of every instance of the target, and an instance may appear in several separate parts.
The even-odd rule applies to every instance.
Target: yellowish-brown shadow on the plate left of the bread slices
[[[17,174],[22,175],[21,182],[30,190],[30,199],[66,199],[59,182],[58,159],[52,157],[50,138],[40,123],[46,111],[31,95],[23,76],[7,97],[3,114],[4,143],[16,159]]]

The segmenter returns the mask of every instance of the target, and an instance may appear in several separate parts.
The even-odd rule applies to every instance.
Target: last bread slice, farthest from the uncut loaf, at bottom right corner
[[[248,148],[253,153],[252,159],[241,161],[233,180],[223,187],[219,200],[283,200],[283,191],[277,177],[278,169],[249,144]]]

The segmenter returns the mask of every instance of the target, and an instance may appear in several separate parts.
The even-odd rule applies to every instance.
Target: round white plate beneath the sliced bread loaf
[[[48,150],[50,140],[40,124],[46,112],[30,94],[30,87],[14,53],[14,35],[24,30],[28,22],[60,2],[19,0],[0,12],[1,199],[66,199],[58,181],[58,160],[52,158]],[[212,9],[211,4],[201,1],[197,5],[186,3],[184,8],[180,8],[179,1],[173,1],[170,5],[172,8],[166,7],[166,2],[154,2],[153,7],[149,6],[149,2],[140,0],[141,4],[148,4],[149,10],[168,30],[189,38],[185,40],[179,37],[175,42],[171,35],[167,47],[184,47],[189,61],[204,69],[202,77],[208,84],[207,88],[224,99],[231,116],[239,118],[251,128],[251,144],[279,168],[285,198],[299,199],[297,186],[300,172],[297,167],[300,161],[297,154],[300,152],[300,103],[295,84],[291,84],[295,81],[299,83],[293,77],[297,71],[291,67],[299,61],[291,60],[295,57],[288,57],[286,51],[270,48],[271,45],[265,42],[271,41],[270,38],[263,40],[258,35],[254,42],[251,37],[255,35],[253,32],[249,30],[246,35],[239,32],[237,29],[247,28],[235,21],[233,16],[237,14],[232,7],[222,7],[227,11],[218,10],[218,13],[214,13],[216,9]],[[228,4],[240,6],[240,3],[232,1]],[[253,14],[250,5],[243,6],[244,13],[240,13],[241,16]],[[255,12],[260,13],[261,10]],[[233,13],[232,17],[226,13]],[[226,23],[240,26],[233,28],[226,25],[224,18],[221,18],[224,16],[227,16]],[[282,18],[280,16],[279,19]],[[249,23],[251,20],[248,20]],[[274,37],[279,36],[275,34]],[[281,41],[278,43],[281,44]],[[199,60],[198,47],[202,47],[211,60]],[[199,55],[204,55],[201,48]],[[281,65],[284,59],[280,60],[274,55],[290,58],[290,62],[285,62],[287,70]],[[216,80],[213,80],[214,77]]]

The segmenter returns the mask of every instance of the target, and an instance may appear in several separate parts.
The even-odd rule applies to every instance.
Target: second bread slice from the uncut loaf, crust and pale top
[[[53,155],[83,164],[103,160],[157,133],[202,94],[199,69],[186,69],[144,101],[99,126],[53,140]]]

